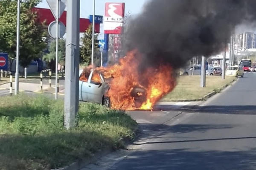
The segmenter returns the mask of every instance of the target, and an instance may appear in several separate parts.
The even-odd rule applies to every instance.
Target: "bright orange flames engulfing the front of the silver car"
[[[141,55],[131,51],[119,60],[119,64],[96,68],[110,85],[106,96],[110,97],[111,108],[151,110],[158,100],[175,87],[175,74],[170,65],[139,71],[141,62]]]

